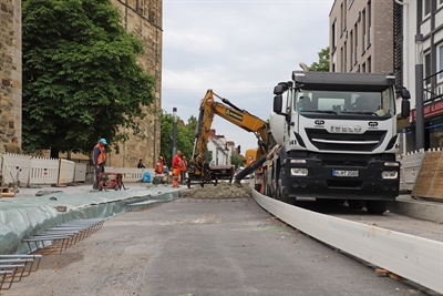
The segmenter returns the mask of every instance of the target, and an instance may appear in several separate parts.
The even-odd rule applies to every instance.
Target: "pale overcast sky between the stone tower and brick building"
[[[329,45],[333,0],[164,0],[162,109],[187,123],[208,89],[267,120],[272,90],[299,63]],[[236,146],[253,133],[215,116],[213,129]],[[177,147],[179,149],[179,147]]]

